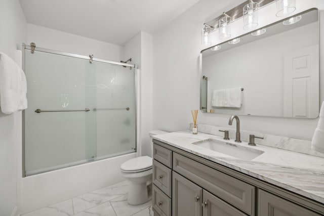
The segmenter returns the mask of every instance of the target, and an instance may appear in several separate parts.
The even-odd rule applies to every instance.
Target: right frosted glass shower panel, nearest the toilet
[[[97,157],[136,151],[135,69],[95,62]]]

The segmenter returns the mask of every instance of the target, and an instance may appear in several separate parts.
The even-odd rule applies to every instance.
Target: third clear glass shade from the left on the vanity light
[[[258,3],[250,2],[243,7],[243,29],[250,30],[258,26]]]

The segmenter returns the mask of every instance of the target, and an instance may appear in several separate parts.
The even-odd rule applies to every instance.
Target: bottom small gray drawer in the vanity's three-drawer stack
[[[153,210],[160,216],[171,216],[171,199],[153,184]]]

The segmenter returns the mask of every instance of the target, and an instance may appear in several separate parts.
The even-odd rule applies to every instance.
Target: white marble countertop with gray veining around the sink
[[[153,136],[153,139],[182,149],[194,155],[240,171],[249,176],[287,189],[324,204],[324,158],[283,149],[256,145],[248,142],[236,143],[233,139],[191,131],[174,132]],[[192,143],[215,139],[238,148],[263,151],[252,160],[242,160]]]

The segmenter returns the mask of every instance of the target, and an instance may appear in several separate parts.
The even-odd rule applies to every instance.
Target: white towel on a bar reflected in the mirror
[[[212,96],[213,107],[240,108],[242,105],[242,91],[240,88],[214,90]]]

